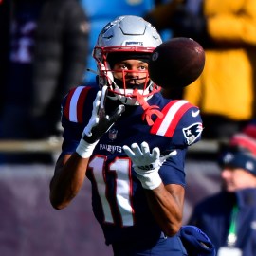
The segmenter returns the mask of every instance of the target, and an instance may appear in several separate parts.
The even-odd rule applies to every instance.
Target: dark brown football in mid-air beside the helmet
[[[149,61],[149,76],[163,88],[185,87],[205,66],[205,51],[192,38],[176,37],[157,46]]]

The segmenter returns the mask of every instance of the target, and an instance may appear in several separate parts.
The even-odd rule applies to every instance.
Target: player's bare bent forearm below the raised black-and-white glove
[[[53,208],[64,209],[80,191],[88,159],[74,153],[58,161],[50,182],[50,202]]]

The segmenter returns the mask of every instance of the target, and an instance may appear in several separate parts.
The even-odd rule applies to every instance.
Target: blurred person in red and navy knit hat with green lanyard
[[[189,223],[208,234],[219,256],[255,256],[255,124],[247,125],[221,148],[220,166],[223,190],[196,205]]]

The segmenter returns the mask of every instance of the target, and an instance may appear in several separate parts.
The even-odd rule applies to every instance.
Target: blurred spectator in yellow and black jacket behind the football
[[[200,107],[205,138],[227,139],[255,117],[256,1],[173,0],[165,6],[146,19],[206,51],[203,74],[178,97]]]

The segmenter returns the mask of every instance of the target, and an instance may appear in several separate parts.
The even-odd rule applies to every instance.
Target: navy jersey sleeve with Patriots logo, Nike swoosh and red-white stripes
[[[164,162],[159,174],[165,185],[179,184],[185,187],[184,163],[187,149],[200,140],[203,130],[200,110],[188,101],[176,100],[166,104],[162,113],[163,118],[155,120],[150,132],[159,136],[158,140],[169,141],[169,153],[175,149],[177,154]],[[168,152],[163,152],[163,155],[166,154]]]

